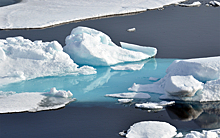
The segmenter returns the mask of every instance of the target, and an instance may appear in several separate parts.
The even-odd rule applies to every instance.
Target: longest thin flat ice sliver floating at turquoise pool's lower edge
[[[116,94],[106,94],[107,97],[116,97],[116,98],[144,98],[148,99],[150,98],[150,95],[147,93],[136,93],[136,92],[128,92],[128,93],[116,93]]]

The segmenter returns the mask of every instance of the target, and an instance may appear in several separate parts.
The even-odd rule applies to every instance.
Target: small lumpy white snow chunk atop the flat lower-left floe
[[[64,91],[64,90],[57,90],[55,87],[51,88],[49,92],[46,92],[45,94],[57,96],[57,97],[63,97],[68,98],[72,97],[73,94],[70,91]]]

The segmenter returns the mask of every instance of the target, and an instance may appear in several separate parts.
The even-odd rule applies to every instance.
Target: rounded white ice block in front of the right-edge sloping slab
[[[170,76],[166,79],[165,88],[170,95],[178,97],[194,96],[198,90],[203,89],[203,83],[189,76]]]

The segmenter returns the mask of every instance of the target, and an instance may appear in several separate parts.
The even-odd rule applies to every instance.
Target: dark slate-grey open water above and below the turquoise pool
[[[190,1],[191,2],[191,1]],[[154,46],[157,58],[193,58],[220,55],[220,8],[168,6],[132,16],[120,16],[38,30],[0,30],[0,39],[23,36],[31,40],[59,41],[77,26],[87,26],[120,41]],[[127,32],[135,27],[135,32]],[[114,103],[71,103],[64,109],[0,115],[0,137],[114,138],[140,121],[165,121],[179,131],[220,127],[219,103],[178,103],[148,113]],[[105,105],[105,106],[103,106]],[[106,105],[110,105],[109,107]],[[156,133],[156,132],[155,132]]]

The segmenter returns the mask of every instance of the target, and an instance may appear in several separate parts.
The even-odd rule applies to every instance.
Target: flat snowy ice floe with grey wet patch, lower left
[[[65,96],[68,93],[68,97]],[[71,92],[24,92],[1,96],[0,113],[37,112],[64,107],[75,100]]]

